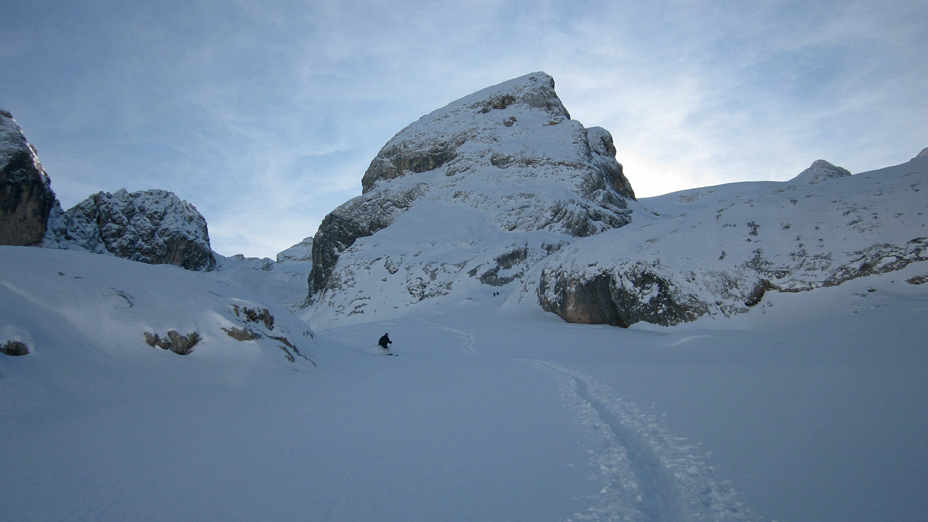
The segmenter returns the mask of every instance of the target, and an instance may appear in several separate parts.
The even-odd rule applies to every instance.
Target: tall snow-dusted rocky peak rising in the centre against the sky
[[[557,245],[629,223],[634,192],[615,152],[609,132],[570,119],[545,73],[423,116],[373,159],[362,195],[322,221],[310,301],[360,313],[465,280],[514,281]]]

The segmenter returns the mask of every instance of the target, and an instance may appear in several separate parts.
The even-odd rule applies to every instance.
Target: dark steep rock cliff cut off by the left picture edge
[[[0,109],[0,245],[41,243],[54,204],[35,148],[13,116]]]

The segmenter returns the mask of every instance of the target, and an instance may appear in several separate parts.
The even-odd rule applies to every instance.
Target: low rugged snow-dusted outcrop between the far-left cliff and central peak
[[[98,192],[52,212],[43,246],[110,254],[188,270],[216,267],[206,220],[173,192]]]

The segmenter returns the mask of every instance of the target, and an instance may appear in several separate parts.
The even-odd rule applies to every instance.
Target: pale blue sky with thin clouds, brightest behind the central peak
[[[928,147],[920,0],[4,0],[0,108],[65,209],[164,189],[274,258],[406,125],[535,71],[639,198]]]

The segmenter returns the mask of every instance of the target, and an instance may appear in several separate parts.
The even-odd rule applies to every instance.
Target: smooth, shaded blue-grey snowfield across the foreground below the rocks
[[[630,329],[479,288],[310,328],[271,299],[293,274],[258,265],[233,278],[26,247],[0,263],[0,345],[31,352],[0,355],[6,520],[928,513],[928,292],[909,282],[924,262]],[[201,340],[186,356],[146,344],[171,329]],[[399,357],[379,353],[384,332]]]

